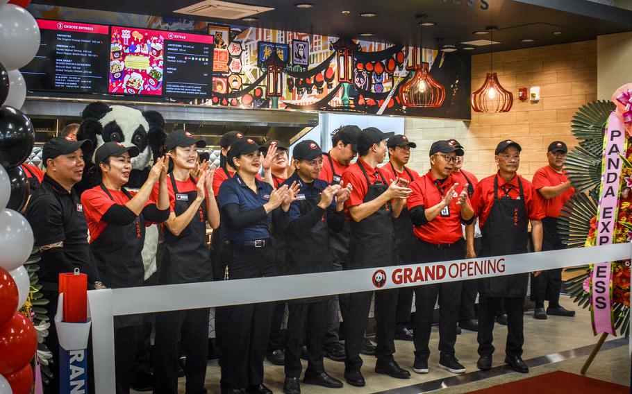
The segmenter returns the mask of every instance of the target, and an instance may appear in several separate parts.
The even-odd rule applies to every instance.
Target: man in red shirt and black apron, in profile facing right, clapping
[[[377,167],[386,155],[386,140],[392,132],[369,127],[358,135],[358,162],[342,174],[344,185],[353,187],[345,209],[349,217],[349,264],[345,269],[391,266],[399,260],[394,245],[392,218],[397,218],[410,196],[408,182],[387,179]],[[343,295],[341,295],[343,298]],[[345,294],[340,302],[344,320],[344,379],[351,386],[364,386],[360,372],[363,337],[372,292]],[[399,367],[393,358],[395,352],[395,311],[397,289],[375,293],[376,350],[375,372],[398,379],[408,379],[410,372]]]

